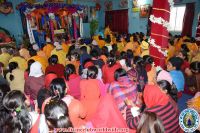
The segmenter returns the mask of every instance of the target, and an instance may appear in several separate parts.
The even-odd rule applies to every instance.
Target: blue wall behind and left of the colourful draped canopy
[[[17,43],[19,44],[22,42],[23,29],[22,29],[21,17],[19,11],[16,10],[16,6],[19,3],[23,2],[24,0],[7,0],[7,1],[12,2],[14,12],[12,14],[8,14],[7,16],[0,13],[0,27],[7,29],[12,36],[14,35]],[[42,2],[44,0],[37,0],[37,1]],[[73,0],[73,4],[95,6],[95,3],[89,0],[85,0],[84,2],[82,0]],[[98,17],[98,12],[97,12],[97,17]],[[84,37],[90,37],[89,23],[83,24],[83,31],[84,31],[83,34]]]

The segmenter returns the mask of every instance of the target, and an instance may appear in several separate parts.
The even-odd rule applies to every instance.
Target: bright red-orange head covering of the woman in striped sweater
[[[156,85],[146,85],[144,88],[144,102],[148,108],[157,105],[166,105],[169,102],[167,94],[161,92]]]

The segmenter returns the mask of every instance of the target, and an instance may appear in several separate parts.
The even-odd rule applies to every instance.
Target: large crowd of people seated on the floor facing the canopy
[[[143,33],[97,35],[91,41],[55,38],[54,43],[47,38],[43,48],[3,48],[0,130],[183,132],[177,101],[183,91],[200,89],[200,48],[193,38],[171,36],[161,69],[149,55],[146,38]],[[199,111],[199,99],[197,93],[188,106]]]

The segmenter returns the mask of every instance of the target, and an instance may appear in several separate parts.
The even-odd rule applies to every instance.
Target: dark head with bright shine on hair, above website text
[[[68,107],[62,100],[51,100],[44,108],[44,115],[51,130],[73,127],[69,118]]]

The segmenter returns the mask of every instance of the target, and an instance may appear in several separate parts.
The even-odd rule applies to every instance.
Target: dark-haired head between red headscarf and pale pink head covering
[[[160,86],[160,88],[163,91],[166,91],[166,93],[169,94],[175,102],[177,102],[178,91],[177,91],[176,87],[174,87],[174,85],[171,85],[167,80],[160,80],[160,81],[157,82],[157,84]]]

